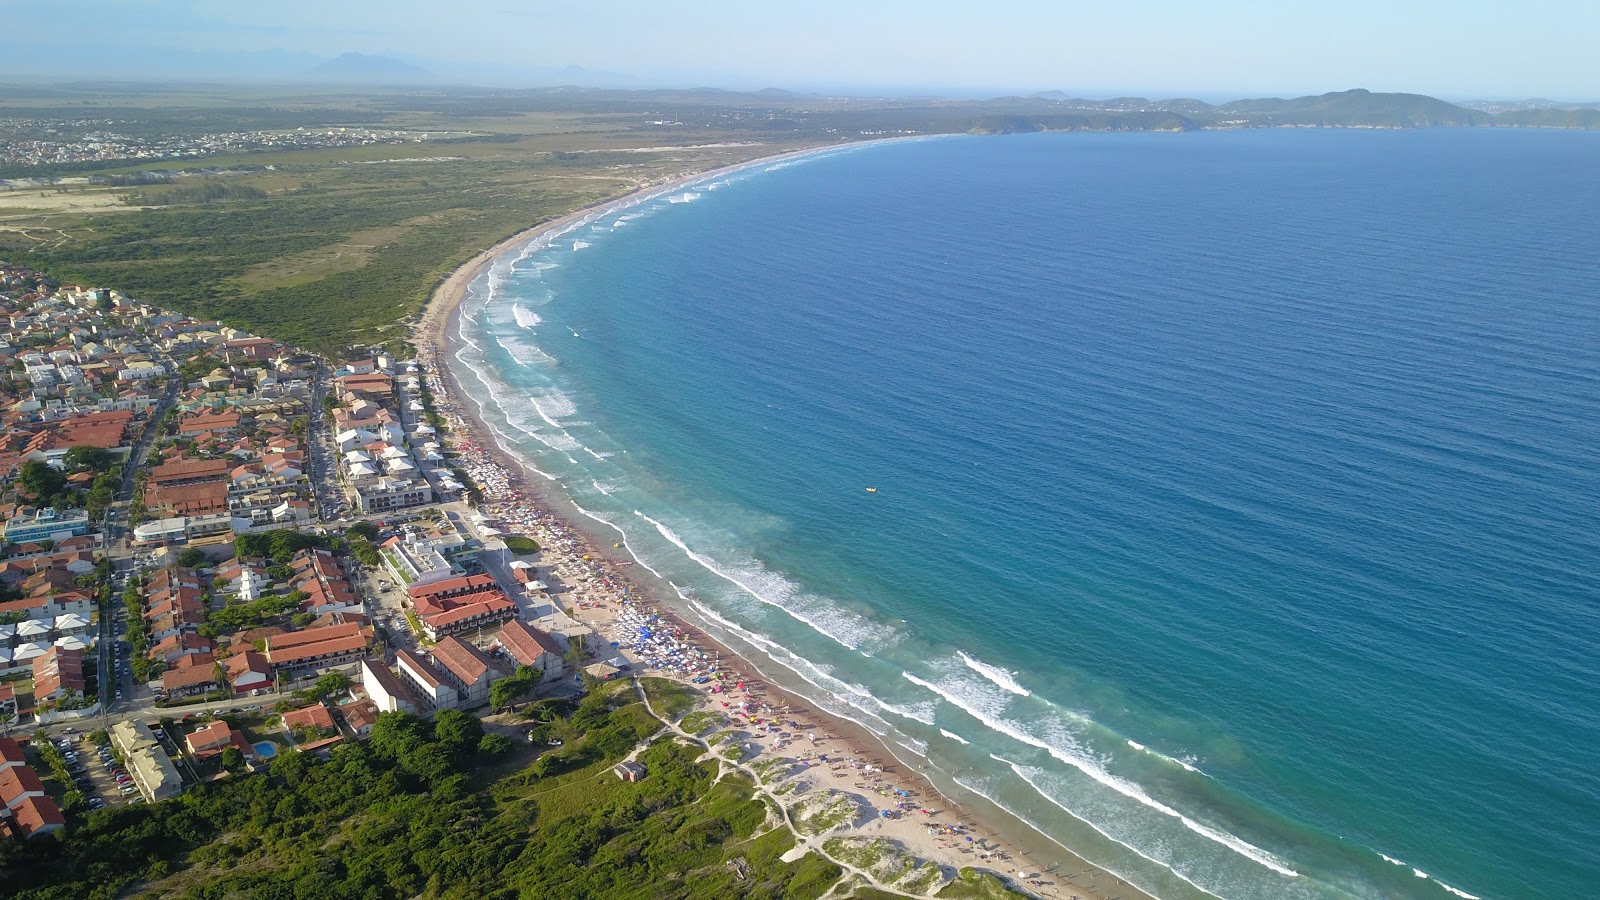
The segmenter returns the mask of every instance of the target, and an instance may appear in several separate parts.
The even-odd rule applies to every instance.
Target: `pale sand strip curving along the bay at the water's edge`
[[[493,477],[499,484],[493,485],[491,492],[486,492],[490,496],[485,503],[488,516],[491,519],[499,519],[496,522],[498,525],[502,525],[507,517],[515,520],[515,514],[510,509],[501,509],[501,514],[496,514],[494,508],[501,504],[517,508],[531,504],[531,508],[538,511],[538,525],[534,525],[534,528],[542,530],[536,535],[536,538],[542,538],[539,543],[544,548],[539,557],[539,567],[549,569],[552,577],[557,577],[555,580],[560,583],[558,596],[563,597],[558,607],[566,617],[606,637],[616,639],[614,634],[610,634],[610,629],[618,628],[619,620],[627,620],[637,610],[659,615],[662,620],[670,621],[672,633],[677,637],[682,637],[686,645],[710,650],[715,653],[718,661],[731,665],[733,671],[758,673],[755,679],[747,679],[742,674],[736,676],[741,682],[749,682],[750,685],[744,695],[746,703],[758,703],[758,709],[765,713],[782,709],[784,717],[805,717],[810,725],[808,733],[822,733],[821,738],[810,741],[806,756],[797,759],[797,764],[802,769],[806,769],[808,765],[816,767],[814,761],[818,757],[838,762],[840,756],[843,756],[853,767],[866,765],[869,767],[866,772],[872,772],[874,769],[882,772],[867,775],[867,778],[872,778],[869,781],[851,781],[850,785],[842,785],[846,788],[846,793],[851,793],[848,791],[848,786],[864,791],[864,794],[858,799],[874,804],[870,799],[870,794],[874,793],[890,796],[888,790],[904,790],[909,791],[910,796],[918,798],[915,801],[917,804],[938,807],[938,812],[933,817],[918,818],[917,815],[909,815],[901,818],[872,818],[854,828],[846,828],[840,834],[858,838],[886,838],[904,847],[904,850],[917,860],[938,863],[947,876],[958,868],[973,866],[979,871],[987,871],[1003,878],[1016,890],[1037,897],[1075,897],[1080,900],[1107,897],[1134,900],[1147,897],[1136,887],[1120,881],[1114,873],[1104,871],[1099,866],[1085,862],[1082,857],[1077,857],[1066,847],[1054,842],[1054,839],[1034,831],[1030,826],[1021,823],[1000,807],[994,807],[982,798],[970,796],[963,798],[962,802],[952,801],[946,790],[941,790],[915,772],[915,767],[901,762],[885,738],[878,737],[864,725],[856,724],[854,721],[816,709],[814,705],[805,700],[803,695],[774,684],[773,679],[762,669],[758,655],[741,653],[730,647],[728,641],[712,637],[702,628],[693,625],[685,613],[680,613],[672,605],[672,591],[666,589],[664,583],[654,583],[648,572],[634,567],[634,560],[627,557],[626,551],[610,548],[603,536],[594,533],[590,530],[592,525],[586,524],[582,516],[571,508],[565,493],[560,490],[549,490],[549,485],[544,485],[541,479],[530,477],[530,466],[499,444],[494,429],[491,429],[480,418],[478,410],[474,407],[475,400],[462,402],[472,400],[472,396],[462,391],[454,372],[445,362],[448,356],[454,352],[454,338],[451,335],[456,328],[459,309],[467,298],[470,283],[504,253],[515,250],[517,247],[557,235],[587,218],[602,216],[616,208],[632,205],[722,173],[755,165],[770,165],[773,162],[846,146],[856,144],[829,144],[822,147],[789,151],[728,167],[683,175],[654,186],[642,187],[622,197],[574,210],[539,226],[525,229],[478,253],[469,263],[451,272],[435,288],[427,307],[413,327],[413,343],[418,348],[418,359],[422,362],[424,370],[432,376],[430,381],[434,383],[435,404],[442,413],[453,420],[454,424],[453,431],[456,431],[456,434],[450,436],[451,444],[454,444],[458,452],[466,452],[475,460],[475,466],[469,468],[490,468],[498,472]],[[474,471],[474,474],[477,476],[478,472]],[[502,493],[509,495],[509,498],[501,496]],[[525,522],[528,520],[525,519]],[[552,536],[555,538],[554,541],[550,540]],[[621,591],[618,593],[616,588],[621,588]],[[586,596],[594,594],[598,594],[602,601],[584,602]],[[566,602],[566,597],[574,597],[574,601]],[[677,681],[688,682],[686,673],[677,673],[677,676],[674,676],[669,671],[653,671],[643,665],[638,666],[638,669],[648,671],[648,674],[677,677]],[[722,671],[726,673],[728,668],[725,666]],[[757,687],[757,682],[763,682],[762,687]],[[698,709],[720,714],[715,708],[715,703],[718,701],[725,709],[728,708],[726,701],[714,698],[712,693],[706,693]],[[760,719],[752,717],[752,721]],[[741,732],[741,735],[744,735],[744,732]],[[773,735],[757,733],[741,737],[741,740],[749,738],[773,740]],[[806,741],[778,738],[773,743],[776,743],[776,746],[763,746],[752,740],[750,746],[760,748],[755,751],[760,756],[768,751],[779,753],[789,743],[798,743],[803,746]],[[766,759],[771,759],[771,756],[766,756]],[[835,777],[843,775],[835,772]],[[870,790],[866,790],[864,785]],[[822,780],[810,786],[832,788],[834,785]],[[878,790],[880,786],[885,790]],[[960,791],[957,788],[950,793],[966,791]],[[802,793],[797,791],[795,796],[798,798]],[[974,807],[979,809],[974,810]],[[915,812],[920,814],[922,809],[917,809]],[[997,828],[994,825],[997,820],[1006,822],[1006,825],[1003,828]],[[965,841],[946,841],[933,828],[928,828],[930,825],[955,826],[958,830],[957,834],[965,836]],[[944,838],[950,836],[946,834]],[[819,841],[821,838],[818,838],[818,842]],[[802,838],[802,842],[810,844],[811,839]],[[974,846],[982,847],[984,852],[979,854]],[[995,850],[995,855],[990,857],[989,847],[1003,849]],[[811,849],[821,847],[813,846]],[[846,870],[854,871],[848,866]]]

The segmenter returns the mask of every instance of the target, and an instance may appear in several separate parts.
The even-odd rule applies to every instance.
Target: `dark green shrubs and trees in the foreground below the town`
[[[509,741],[454,711],[386,713],[368,745],[328,762],[286,753],[176,801],[94,812],[64,841],[0,849],[6,895],[805,900],[838,881],[816,854],[782,862],[794,836],[696,748],[656,741],[638,754],[646,778],[616,778],[659,730],[630,692],[592,695],[566,725],[582,737],[480,783],[485,756],[518,753]]]

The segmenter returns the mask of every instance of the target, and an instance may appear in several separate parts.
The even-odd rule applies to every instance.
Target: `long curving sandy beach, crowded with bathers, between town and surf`
[[[816,151],[797,151],[757,162],[771,163],[805,152]],[[752,163],[726,168],[747,165]],[[541,578],[552,585],[555,602],[568,618],[595,631],[605,642],[618,641],[626,645],[634,641],[642,621],[648,621],[651,615],[661,617],[653,623],[661,652],[646,653],[646,658],[626,653],[634,663],[630,669],[683,684],[691,684],[694,676],[714,673],[712,682],[691,684],[701,692],[694,711],[714,714],[722,722],[714,732],[701,735],[701,740],[723,735],[710,753],[726,759],[725,754],[736,741],[736,764],[755,777],[768,796],[794,810],[797,818],[814,815],[830,804],[838,809],[845,809],[846,801],[851,804],[854,812],[848,823],[826,834],[802,836],[800,847],[821,852],[822,844],[832,838],[886,839],[914,862],[936,863],[944,878],[954,876],[962,866],[974,866],[1038,897],[1146,897],[981,798],[970,798],[965,806],[957,806],[922,773],[898,761],[870,730],[829,716],[797,693],[768,682],[758,674],[757,655],[741,658],[686,621],[666,601],[672,597],[666,585],[651,583],[648,572],[640,572],[630,559],[576,525],[581,519],[566,498],[557,490],[546,490],[542,479],[533,477],[520,460],[499,447],[474,404],[462,402],[467,394],[442,364],[445,354],[451,352],[450,331],[467,287],[496,256],[557,234],[587,216],[674,191],[717,171],[723,170],[667,181],[528,229],[480,253],[438,285],[414,327],[413,341],[418,346],[418,362],[434,391],[435,407],[451,423],[445,442],[461,455],[462,468],[485,490],[480,511],[496,527],[525,533],[539,543],[536,564]],[[664,628],[662,620],[667,623]],[[890,812],[888,818],[883,817],[885,810]],[[997,822],[1006,822],[1005,828],[997,828]],[[848,865],[846,868],[858,871]]]

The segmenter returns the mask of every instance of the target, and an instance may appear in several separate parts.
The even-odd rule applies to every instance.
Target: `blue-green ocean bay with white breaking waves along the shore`
[[[478,277],[506,447],[1162,898],[1600,895],[1600,135],[893,141]]]

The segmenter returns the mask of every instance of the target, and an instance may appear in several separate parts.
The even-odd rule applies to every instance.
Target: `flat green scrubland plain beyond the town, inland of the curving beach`
[[[35,173],[58,183],[0,191],[0,258],[338,352],[403,340],[406,319],[450,271],[517,231],[680,175],[837,141],[757,130],[718,104],[690,104],[688,117],[648,102],[568,106],[195,88],[13,98],[0,117],[117,115],[168,133],[338,123],[456,136]],[[197,165],[224,173],[94,183]],[[248,197],[195,202],[206,183]]]

